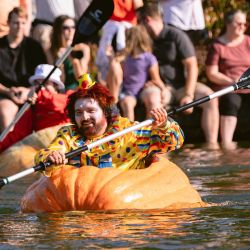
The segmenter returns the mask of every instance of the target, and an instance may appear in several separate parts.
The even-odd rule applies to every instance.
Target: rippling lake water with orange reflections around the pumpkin
[[[250,149],[186,145],[171,159],[202,199],[199,209],[22,214],[27,176],[0,191],[0,249],[250,249]]]

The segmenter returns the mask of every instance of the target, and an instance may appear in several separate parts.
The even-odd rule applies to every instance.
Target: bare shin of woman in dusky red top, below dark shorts
[[[220,117],[220,136],[221,143],[227,147],[233,142],[233,135],[237,125],[236,116],[221,116]]]

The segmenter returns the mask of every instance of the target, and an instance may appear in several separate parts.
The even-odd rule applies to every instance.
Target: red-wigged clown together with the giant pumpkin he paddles
[[[162,107],[152,108],[150,123],[136,127],[119,115],[113,96],[90,74],[79,82],[67,105],[72,125],[59,129],[35,157],[37,164],[50,164],[23,196],[23,212],[205,205],[182,170],[163,156],[181,147],[183,133]],[[130,127],[129,133],[112,137]],[[86,144],[95,146],[66,157]]]

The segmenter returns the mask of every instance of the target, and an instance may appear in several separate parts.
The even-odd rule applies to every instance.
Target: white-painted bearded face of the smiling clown
[[[80,98],[75,103],[75,121],[80,133],[93,138],[107,129],[107,119],[98,102],[92,98]]]

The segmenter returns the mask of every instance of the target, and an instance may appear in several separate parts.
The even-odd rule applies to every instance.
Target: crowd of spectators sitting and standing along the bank
[[[90,2],[0,1],[0,132],[30,98],[29,79],[37,66],[54,65],[71,45],[77,20]],[[114,0],[114,4],[113,15],[99,35],[94,64],[98,81],[110,89],[131,120],[137,119],[138,103],[146,111],[185,105],[233,84],[250,67],[247,16],[241,10],[225,14],[225,29],[207,52],[207,82],[198,82],[195,46],[207,38],[201,0]],[[64,88],[56,92],[77,87],[76,79],[92,70],[92,54],[90,44],[75,45],[60,68]],[[242,94],[200,105],[208,145],[217,148],[221,142],[225,148],[235,147]],[[185,112],[189,115],[193,109]]]

